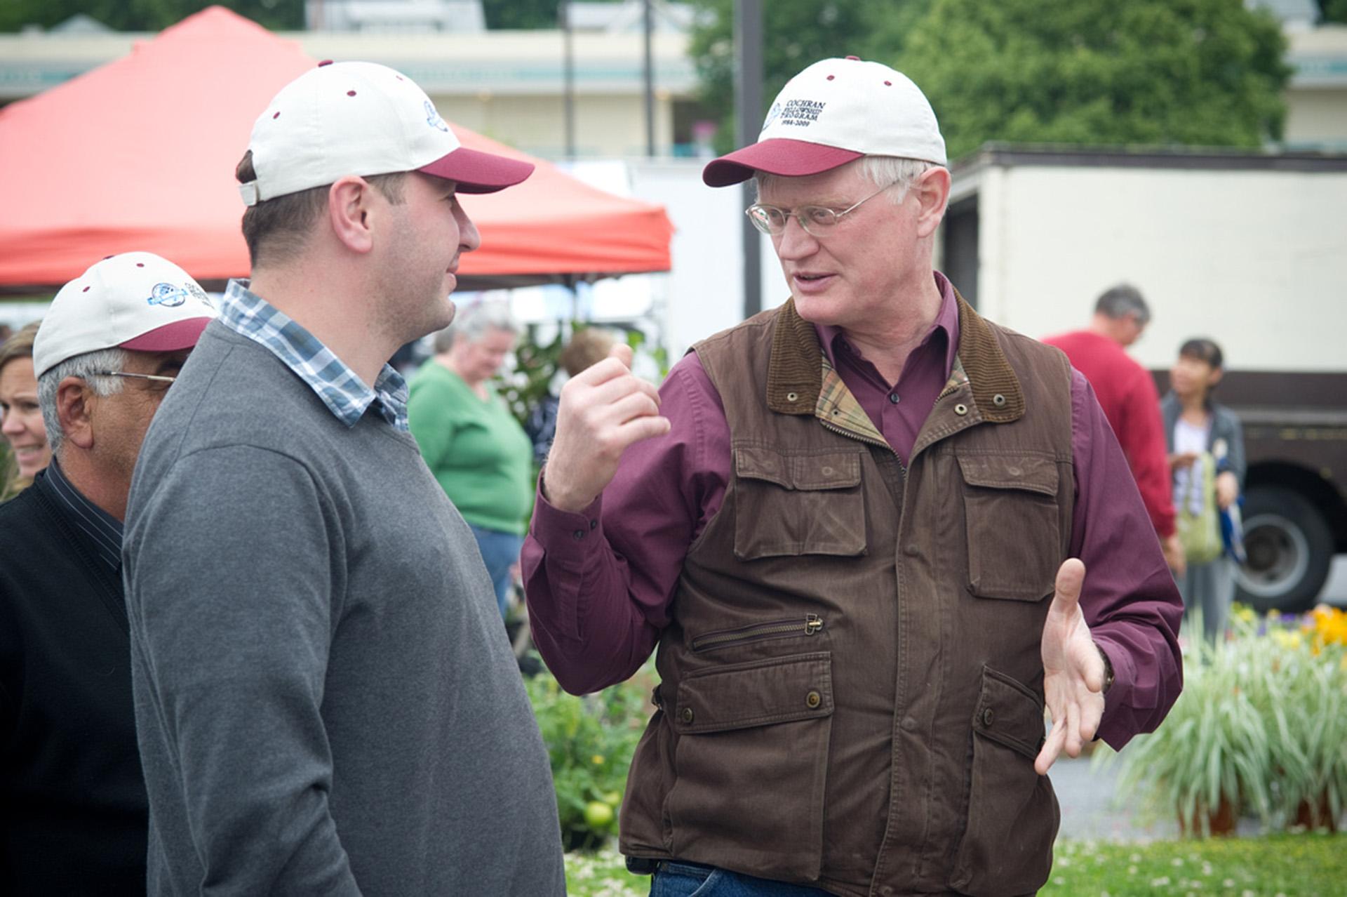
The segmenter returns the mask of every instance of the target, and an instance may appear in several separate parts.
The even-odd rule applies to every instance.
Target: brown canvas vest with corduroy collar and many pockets
[[[691,545],[621,849],[839,894],[1024,894],[1057,801],[1040,645],[1074,498],[1060,352],[959,300],[904,469],[792,302],[711,337],[731,475]]]

